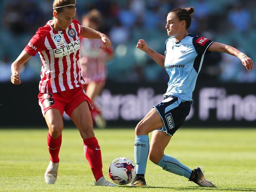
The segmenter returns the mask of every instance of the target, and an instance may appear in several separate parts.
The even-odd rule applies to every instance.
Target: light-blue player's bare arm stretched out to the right
[[[243,63],[247,70],[251,71],[254,68],[254,63],[250,57],[248,57],[246,54],[240,52],[239,50],[230,45],[226,45],[219,42],[213,42],[210,45],[208,51],[224,52],[230,55],[234,55],[235,57],[238,57],[241,60],[241,62]]]

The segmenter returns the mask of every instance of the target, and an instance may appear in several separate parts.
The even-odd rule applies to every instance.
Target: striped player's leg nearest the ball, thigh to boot
[[[103,177],[101,150],[98,140],[94,135],[89,103],[87,101],[80,103],[74,111],[72,111],[70,118],[79,129],[80,135],[83,138],[85,157],[95,177],[95,185],[116,186]]]

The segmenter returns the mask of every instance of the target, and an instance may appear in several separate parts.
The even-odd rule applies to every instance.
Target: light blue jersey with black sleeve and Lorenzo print
[[[164,96],[173,95],[180,101],[191,101],[204,55],[213,41],[188,34],[179,42],[170,37],[165,42],[165,69],[170,77]]]

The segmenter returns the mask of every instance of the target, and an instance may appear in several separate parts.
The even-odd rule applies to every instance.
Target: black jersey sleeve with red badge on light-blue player
[[[197,36],[193,38],[193,46],[195,47],[195,50],[197,51],[198,55],[207,54],[207,50],[212,43],[213,41],[202,36]]]

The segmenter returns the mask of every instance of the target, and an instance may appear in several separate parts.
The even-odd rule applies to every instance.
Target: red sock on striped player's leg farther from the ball
[[[51,155],[50,160],[54,163],[59,162],[59,149],[61,146],[61,135],[58,138],[52,138],[50,133],[47,134],[48,150]]]

